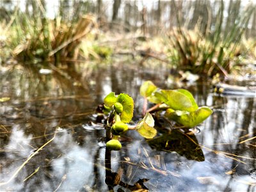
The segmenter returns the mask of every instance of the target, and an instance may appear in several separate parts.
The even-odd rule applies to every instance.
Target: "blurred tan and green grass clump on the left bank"
[[[17,12],[9,31],[12,56],[20,61],[54,60],[58,63],[65,59],[76,59],[81,40],[90,33],[95,18],[84,15],[78,20],[51,20],[31,17]]]

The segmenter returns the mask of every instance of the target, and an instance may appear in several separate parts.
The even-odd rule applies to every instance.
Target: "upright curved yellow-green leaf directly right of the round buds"
[[[124,123],[129,123],[132,120],[134,109],[132,97],[125,93],[121,93],[116,99],[116,102],[120,102],[120,104],[123,106],[123,112],[120,115],[121,121]]]

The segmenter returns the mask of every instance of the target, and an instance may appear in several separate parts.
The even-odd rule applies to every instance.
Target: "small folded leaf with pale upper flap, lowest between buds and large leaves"
[[[147,113],[143,120],[138,122],[136,126],[136,131],[140,133],[141,136],[147,139],[154,138],[156,136],[157,131],[154,129],[154,118],[150,113]]]

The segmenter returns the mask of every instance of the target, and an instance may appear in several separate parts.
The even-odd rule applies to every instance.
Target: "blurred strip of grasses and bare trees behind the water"
[[[138,54],[227,76],[255,63],[255,36],[253,1],[0,1],[1,65]]]

